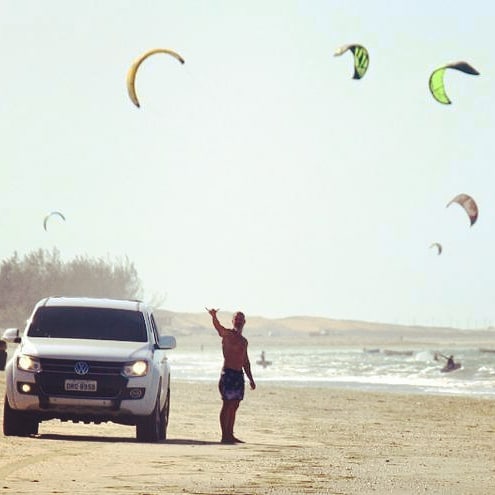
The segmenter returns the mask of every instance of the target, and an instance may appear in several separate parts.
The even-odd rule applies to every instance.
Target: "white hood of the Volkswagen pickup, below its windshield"
[[[148,342],[38,337],[24,337],[18,351],[43,358],[86,361],[132,361],[150,358],[151,354]]]

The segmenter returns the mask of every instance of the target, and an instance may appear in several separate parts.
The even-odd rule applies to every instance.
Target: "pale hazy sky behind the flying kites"
[[[171,311],[495,324],[494,19],[464,0],[0,0],[0,259],[128,256]],[[359,81],[333,56],[348,43],[370,52]],[[186,63],[147,59],[138,109],[126,73],[158,47]],[[441,105],[430,73],[458,60],[480,76],[449,71]]]

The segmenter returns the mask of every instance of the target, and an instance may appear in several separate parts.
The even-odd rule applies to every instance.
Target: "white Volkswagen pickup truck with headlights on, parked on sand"
[[[48,297],[5,368],[3,433],[28,436],[51,419],[136,426],[141,442],[164,440],[170,407],[166,350],[151,309],[140,301]]]

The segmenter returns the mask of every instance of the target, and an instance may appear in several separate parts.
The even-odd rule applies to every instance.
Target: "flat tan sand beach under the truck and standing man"
[[[0,372],[0,396],[5,389]],[[5,494],[490,494],[495,403],[487,399],[248,390],[236,434],[218,443],[214,384],[175,381],[168,438],[134,428],[42,423],[0,436]]]

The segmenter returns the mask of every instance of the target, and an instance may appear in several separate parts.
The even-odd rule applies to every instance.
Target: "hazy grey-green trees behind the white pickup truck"
[[[0,327],[22,328],[36,302],[46,296],[116,299],[142,297],[141,281],[127,257],[76,256],[64,262],[57,249],[15,252],[0,266]]]

